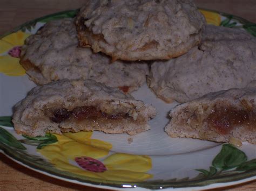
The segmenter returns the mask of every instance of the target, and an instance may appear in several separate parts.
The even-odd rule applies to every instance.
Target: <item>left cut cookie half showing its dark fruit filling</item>
[[[150,129],[156,109],[117,88],[94,80],[60,80],[33,88],[15,105],[12,122],[17,133],[99,130],[135,135]]]

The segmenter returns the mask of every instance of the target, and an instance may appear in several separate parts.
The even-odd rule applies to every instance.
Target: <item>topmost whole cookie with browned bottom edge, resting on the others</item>
[[[112,60],[177,57],[200,43],[204,24],[190,0],[91,0],[76,19],[80,46]]]

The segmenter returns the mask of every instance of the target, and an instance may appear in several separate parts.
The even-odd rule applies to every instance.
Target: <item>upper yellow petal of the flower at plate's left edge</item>
[[[17,31],[14,33],[9,34],[8,36],[5,36],[2,38],[2,40],[6,41],[7,43],[10,43],[14,46],[22,46],[24,45],[24,41],[27,37],[29,37],[31,34],[24,33],[22,31]]]

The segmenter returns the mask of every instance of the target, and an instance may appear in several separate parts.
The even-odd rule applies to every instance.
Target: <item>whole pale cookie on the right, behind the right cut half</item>
[[[166,102],[244,88],[256,80],[256,38],[238,29],[206,26],[203,42],[188,53],[151,65],[149,87]]]

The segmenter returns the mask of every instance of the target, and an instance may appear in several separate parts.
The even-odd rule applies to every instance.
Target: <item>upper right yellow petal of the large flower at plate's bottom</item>
[[[146,172],[152,167],[151,158],[146,155],[115,153],[104,159],[107,169]]]

